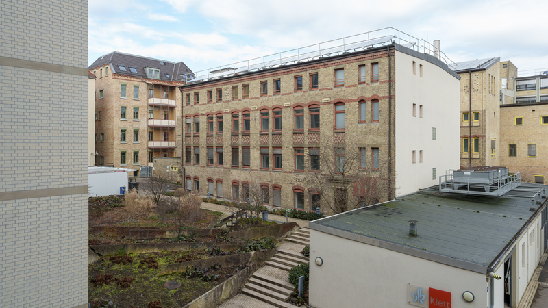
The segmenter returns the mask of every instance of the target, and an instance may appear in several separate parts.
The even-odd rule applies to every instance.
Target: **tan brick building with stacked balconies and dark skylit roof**
[[[114,51],[89,66],[95,80],[97,166],[153,166],[153,157],[175,157],[181,86],[192,75],[183,62]],[[179,136],[179,138],[177,138]]]

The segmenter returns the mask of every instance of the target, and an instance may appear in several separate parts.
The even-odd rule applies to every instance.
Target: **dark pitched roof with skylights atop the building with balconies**
[[[103,66],[105,64],[110,64],[112,73],[143,78],[147,77],[145,68],[157,68],[160,70],[160,80],[162,81],[184,81],[182,74],[192,74],[192,70],[183,62],[170,62],[153,59],[151,57],[142,57],[140,55],[130,55],[118,51],[113,51],[112,53],[99,57],[89,66],[89,69],[97,68],[98,66]],[[125,66],[126,71],[121,70],[120,66]],[[136,73],[133,73],[129,69],[130,67],[135,68]]]

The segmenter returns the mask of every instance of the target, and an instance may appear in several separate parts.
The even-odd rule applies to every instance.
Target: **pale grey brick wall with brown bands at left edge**
[[[88,1],[0,20],[0,307],[88,307]]]

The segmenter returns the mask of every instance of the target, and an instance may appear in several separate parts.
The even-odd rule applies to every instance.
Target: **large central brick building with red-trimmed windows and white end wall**
[[[458,167],[459,76],[425,47],[393,40],[347,38],[196,73],[180,87],[187,188],[231,198],[260,185],[273,189],[267,205],[316,209],[306,183],[325,172],[324,147],[334,164],[360,153],[356,174],[387,166],[373,177],[395,178],[390,198],[437,183],[436,170]]]

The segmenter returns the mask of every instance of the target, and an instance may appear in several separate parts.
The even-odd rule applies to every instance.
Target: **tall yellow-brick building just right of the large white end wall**
[[[499,166],[500,58],[458,62],[460,166]]]

